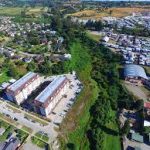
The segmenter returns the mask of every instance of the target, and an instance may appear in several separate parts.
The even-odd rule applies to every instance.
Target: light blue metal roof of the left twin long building
[[[29,72],[27,73],[25,76],[23,76],[22,78],[20,78],[19,80],[17,80],[15,83],[13,83],[9,89],[11,91],[16,91],[18,88],[20,88],[21,86],[23,86],[26,82],[28,82],[31,78],[33,78],[36,75],[36,73],[34,72]]]

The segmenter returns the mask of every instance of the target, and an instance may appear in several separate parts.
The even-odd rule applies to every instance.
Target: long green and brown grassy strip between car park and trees
[[[88,49],[83,48],[81,44],[77,42],[72,45],[71,53],[73,56],[72,62],[70,63],[71,67],[78,70],[76,67],[80,65],[79,62],[85,63],[84,69],[81,68],[78,70],[78,75],[84,84],[84,89],[62,124],[61,132],[65,134],[61,135],[63,139],[66,140],[65,143],[74,143],[76,149],[86,150],[88,149],[88,140],[85,136],[85,132],[90,119],[89,109],[98,96],[98,88],[96,82],[90,78],[91,62],[88,58]],[[79,68],[80,67],[81,66],[79,66]],[[64,147],[63,149],[66,148]]]

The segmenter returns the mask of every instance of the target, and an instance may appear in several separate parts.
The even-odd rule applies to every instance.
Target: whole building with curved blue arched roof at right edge
[[[124,78],[126,81],[135,84],[143,84],[148,81],[148,77],[145,70],[139,65],[125,65],[124,67]]]

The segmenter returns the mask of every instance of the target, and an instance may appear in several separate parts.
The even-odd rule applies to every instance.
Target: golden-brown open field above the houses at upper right
[[[105,10],[83,10],[76,12],[74,14],[71,14],[71,16],[78,17],[81,19],[96,19],[100,20],[102,17],[117,17],[121,18],[124,16],[131,15],[133,12],[147,12],[149,11],[148,8],[110,8]]]

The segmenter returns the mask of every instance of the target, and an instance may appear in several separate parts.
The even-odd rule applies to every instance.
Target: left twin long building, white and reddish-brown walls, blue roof
[[[15,83],[7,87],[6,96],[8,100],[20,105],[41,84],[38,74],[29,72]]]

